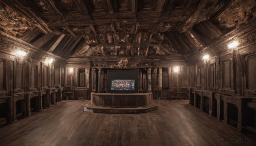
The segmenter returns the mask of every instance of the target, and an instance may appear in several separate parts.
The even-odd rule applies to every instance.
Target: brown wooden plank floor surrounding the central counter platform
[[[1,146],[236,146],[256,145],[256,135],[241,134],[188,100],[154,100],[158,110],[143,114],[84,112],[85,100],[67,100],[0,127]],[[218,143],[217,139],[251,140]]]

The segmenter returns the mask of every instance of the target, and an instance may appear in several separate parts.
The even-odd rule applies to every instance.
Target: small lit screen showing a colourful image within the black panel
[[[111,80],[111,90],[135,90],[135,80]]]

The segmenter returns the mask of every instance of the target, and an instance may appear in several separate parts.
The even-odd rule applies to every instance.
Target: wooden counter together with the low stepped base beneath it
[[[93,113],[127,113],[137,114],[157,110],[153,103],[152,92],[113,94],[91,93],[91,100],[83,105],[84,111]]]

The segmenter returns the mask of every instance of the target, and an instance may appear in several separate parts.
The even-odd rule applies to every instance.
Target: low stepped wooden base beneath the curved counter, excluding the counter
[[[114,107],[104,107],[104,106],[93,106],[90,104],[90,100],[86,100],[84,104],[85,112],[92,112],[92,113],[121,113],[121,114],[139,114],[139,113],[146,113],[155,111],[158,109],[155,103],[151,103],[148,106],[143,107],[134,107],[134,108],[114,108]]]

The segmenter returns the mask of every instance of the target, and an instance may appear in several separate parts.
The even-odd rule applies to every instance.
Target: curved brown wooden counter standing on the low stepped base
[[[152,103],[152,92],[148,93],[91,93],[91,104],[105,107],[141,107]]]

